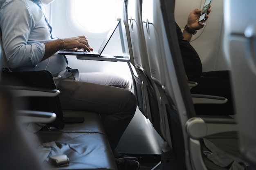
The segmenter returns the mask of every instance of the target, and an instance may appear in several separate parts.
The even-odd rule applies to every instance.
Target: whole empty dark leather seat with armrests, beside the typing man
[[[28,110],[31,110],[32,113],[35,112],[34,110],[49,111],[48,109],[51,109],[50,112],[56,114],[56,120],[54,123],[43,122],[40,123],[39,126],[34,126],[35,124],[27,124],[29,126],[27,126],[27,128],[23,128],[24,131],[28,129],[30,131],[32,130],[31,132],[36,134],[36,138],[39,139],[41,144],[54,141],[61,154],[67,155],[70,159],[68,166],[54,166],[51,168],[117,170],[112,149],[110,148],[108,138],[106,137],[106,133],[98,113],[89,111],[61,110],[61,105],[58,99],[59,91],[56,89],[51,73],[48,71],[31,71],[29,73],[9,71],[2,41],[0,41],[0,54],[0,64],[5,68],[0,68],[3,70],[1,71],[0,78],[4,87],[13,93],[23,91],[21,95],[17,97],[19,97],[21,101],[28,99]],[[38,85],[39,87],[37,87]],[[31,103],[36,104],[36,106],[31,106]],[[23,107],[24,106],[20,106],[17,109],[20,110],[23,109]],[[35,116],[31,115],[31,112],[21,112],[18,113],[18,115],[19,114],[25,114],[25,119]],[[74,123],[72,121],[67,123],[64,122],[63,117],[83,117],[84,121],[83,123]],[[30,129],[30,127],[36,128]],[[4,138],[1,139],[1,142],[6,142],[3,140]],[[15,148],[15,146],[13,147]],[[40,155],[44,153],[44,149],[34,150],[34,152]]]

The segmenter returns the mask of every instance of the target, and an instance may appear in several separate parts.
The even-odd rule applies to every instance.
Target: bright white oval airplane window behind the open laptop
[[[75,18],[91,33],[103,33],[119,18],[121,0],[75,0]]]

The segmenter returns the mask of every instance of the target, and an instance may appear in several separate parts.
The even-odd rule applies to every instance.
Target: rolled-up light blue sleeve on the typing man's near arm
[[[45,44],[28,44],[35,21],[28,5],[23,1],[9,1],[0,9],[2,43],[11,68],[36,66],[43,58]]]

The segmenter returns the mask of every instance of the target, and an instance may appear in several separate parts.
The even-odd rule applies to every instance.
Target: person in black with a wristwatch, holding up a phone
[[[195,104],[195,111],[198,115],[233,115],[229,71],[202,72],[200,57],[190,44],[193,31],[199,30],[205,25],[205,22],[198,22],[200,12],[199,9],[195,9],[189,14],[187,26],[192,31],[184,29],[182,32],[176,23],[176,32],[187,78],[198,83],[191,89],[191,93],[222,96],[226,97],[228,102],[225,104]],[[208,11],[207,19],[210,12],[211,9]]]

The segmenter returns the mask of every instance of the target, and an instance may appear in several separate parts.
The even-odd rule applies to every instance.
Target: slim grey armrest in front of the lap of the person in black
[[[191,94],[193,104],[225,104],[227,99],[225,97],[213,95]]]

